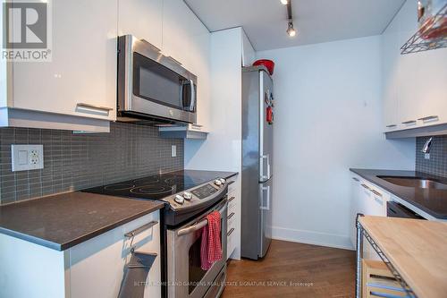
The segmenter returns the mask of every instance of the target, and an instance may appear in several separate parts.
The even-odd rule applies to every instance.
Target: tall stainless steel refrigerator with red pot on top
[[[264,66],[242,68],[242,217],[244,258],[266,255],[272,240],[274,85]]]

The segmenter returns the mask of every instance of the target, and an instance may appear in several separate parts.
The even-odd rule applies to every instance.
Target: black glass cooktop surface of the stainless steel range
[[[184,170],[161,175],[107,184],[84,190],[114,196],[147,200],[160,200],[178,192],[184,192],[200,184],[212,182],[219,172]]]

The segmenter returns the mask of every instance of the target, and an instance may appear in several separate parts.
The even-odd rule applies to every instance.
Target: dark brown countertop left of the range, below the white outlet
[[[158,201],[67,192],[0,206],[0,233],[64,251],[163,207]]]

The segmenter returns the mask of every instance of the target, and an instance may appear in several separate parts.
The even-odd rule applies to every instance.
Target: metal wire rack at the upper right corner
[[[437,27],[440,23],[447,19],[447,4],[436,13],[432,23],[427,24],[425,30],[417,30],[417,32],[409,38],[409,40],[401,47],[401,54],[410,54],[428,51],[436,48],[447,47],[447,36],[441,36],[439,38],[425,39],[423,36],[428,34],[430,30]],[[423,26],[424,27],[424,26]]]

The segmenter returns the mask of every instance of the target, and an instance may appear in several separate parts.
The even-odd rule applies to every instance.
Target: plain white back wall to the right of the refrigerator
[[[349,248],[349,168],[415,164],[414,139],[381,133],[380,37],[257,58],[276,64],[274,238]]]

